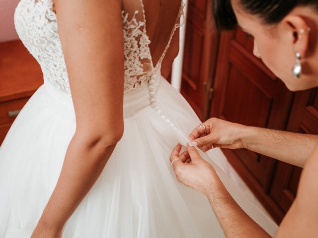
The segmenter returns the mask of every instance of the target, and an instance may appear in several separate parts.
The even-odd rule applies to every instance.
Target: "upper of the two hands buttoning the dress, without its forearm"
[[[203,151],[215,147],[240,149],[244,148],[243,135],[248,126],[229,122],[222,119],[211,118],[203,123],[204,127],[197,126],[189,135],[194,144]]]

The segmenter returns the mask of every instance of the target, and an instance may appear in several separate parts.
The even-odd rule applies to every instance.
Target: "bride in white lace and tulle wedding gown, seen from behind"
[[[20,0],[15,27],[44,84],[0,147],[1,238],[224,237],[168,160],[200,123],[164,79],[182,9],[180,0]],[[208,155],[233,177],[219,149]]]

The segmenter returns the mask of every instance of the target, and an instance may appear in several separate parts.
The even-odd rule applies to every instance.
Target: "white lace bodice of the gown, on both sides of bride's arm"
[[[125,56],[124,91],[146,87],[149,75],[160,70],[161,62],[169,47],[172,36],[183,21],[183,2],[170,35],[166,49],[156,65],[150,53],[151,41],[146,31],[146,17],[142,0],[141,10],[129,16],[122,10]],[[16,31],[32,56],[39,62],[44,82],[71,95],[68,72],[58,33],[57,17],[52,0],[20,0],[15,9]],[[182,23],[181,23],[182,24]]]

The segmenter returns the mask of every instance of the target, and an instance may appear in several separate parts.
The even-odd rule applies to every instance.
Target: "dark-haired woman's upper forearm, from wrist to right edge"
[[[258,127],[246,127],[242,133],[244,148],[299,167],[304,167],[317,142],[317,135]]]

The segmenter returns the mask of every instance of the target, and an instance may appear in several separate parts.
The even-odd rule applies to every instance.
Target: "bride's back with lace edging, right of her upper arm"
[[[150,77],[159,73],[162,60],[180,24],[182,10],[181,0],[122,2],[125,92],[146,86]],[[167,58],[171,59],[166,59],[167,62],[172,63],[174,57],[175,54],[168,54]]]

